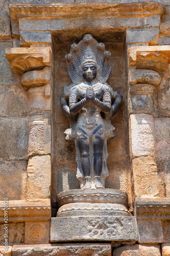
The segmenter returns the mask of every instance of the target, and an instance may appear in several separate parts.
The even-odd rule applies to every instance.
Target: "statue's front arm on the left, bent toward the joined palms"
[[[72,115],[76,115],[83,106],[87,103],[86,98],[78,102],[78,90],[77,88],[70,89],[69,91],[69,112]]]

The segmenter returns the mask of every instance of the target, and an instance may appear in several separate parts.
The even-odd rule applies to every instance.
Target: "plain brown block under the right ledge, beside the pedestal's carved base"
[[[139,243],[162,243],[162,221],[159,219],[137,220]]]

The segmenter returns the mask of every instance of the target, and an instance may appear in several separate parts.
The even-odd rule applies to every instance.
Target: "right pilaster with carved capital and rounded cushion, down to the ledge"
[[[159,73],[169,65],[169,50],[164,46],[141,46],[128,51],[130,152],[136,197],[159,196],[153,116],[157,114]]]

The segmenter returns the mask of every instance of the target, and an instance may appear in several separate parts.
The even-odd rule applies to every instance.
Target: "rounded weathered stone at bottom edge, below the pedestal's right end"
[[[160,245],[125,245],[113,250],[113,256],[160,256]]]

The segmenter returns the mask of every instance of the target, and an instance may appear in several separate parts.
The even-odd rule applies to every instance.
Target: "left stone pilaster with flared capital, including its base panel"
[[[51,48],[7,48],[6,56],[14,73],[21,75],[21,87],[29,102],[26,201],[18,202],[23,208],[19,218],[25,221],[24,243],[48,243],[51,218]],[[11,205],[11,209],[13,207]],[[32,218],[23,219],[26,207],[32,209]],[[38,208],[41,212],[37,212]]]

